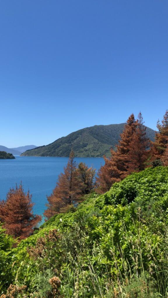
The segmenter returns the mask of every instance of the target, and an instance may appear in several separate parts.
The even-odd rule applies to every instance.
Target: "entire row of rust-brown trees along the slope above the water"
[[[105,193],[113,183],[133,172],[146,167],[168,166],[168,110],[161,123],[157,122],[157,128],[155,141],[151,142],[146,137],[142,114],[138,114],[138,119],[131,114],[115,150],[111,149],[109,158],[104,156],[105,164],[100,167],[96,179],[95,169],[82,162],[77,165],[71,151],[64,172],[59,175],[56,187],[47,197],[45,218],[73,209],[93,190]],[[42,219],[33,214],[31,198],[29,191],[24,192],[21,183],[19,187],[16,185],[16,188],[10,189],[6,200],[0,201],[0,221],[4,223],[7,233],[15,238],[24,239],[31,235]]]

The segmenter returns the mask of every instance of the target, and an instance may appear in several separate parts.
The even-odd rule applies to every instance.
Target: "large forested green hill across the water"
[[[73,148],[77,157],[109,156],[110,148],[115,147],[125,123],[94,125],[75,131],[53,143],[25,151],[23,156],[69,156]],[[153,141],[155,131],[146,128],[147,136]]]

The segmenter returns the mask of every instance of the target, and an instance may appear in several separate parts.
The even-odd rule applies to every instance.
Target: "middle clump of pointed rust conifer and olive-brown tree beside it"
[[[49,219],[82,201],[82,196],[95,188],[94,176],[95,169],[88,167],[85,163],[81,162],[77,167],[72,150],[64,173],[59,175],[56,187],[47,197],[48,204],[46,206],[48,208],[45,210],[44,216]]]

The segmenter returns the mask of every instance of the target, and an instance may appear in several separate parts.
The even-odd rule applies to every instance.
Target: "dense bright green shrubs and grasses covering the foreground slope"
[[[168,167],[132,174],[10,250],[1,291],[10,274],[26,297],[167,297],[167,224]]]

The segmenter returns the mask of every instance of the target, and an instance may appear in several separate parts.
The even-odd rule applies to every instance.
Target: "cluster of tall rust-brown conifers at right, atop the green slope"
[[[114,182],[121,181],[133,172],[146,167],[168,166],[168,110],[163,120],[157,122],[155,141],[146,137],[142,114],[135,120],[134,114],[128,118],[116,150],[111,149],[110,158],[104,156],[105,164],[97,177],[97,191],[105,193]]]

